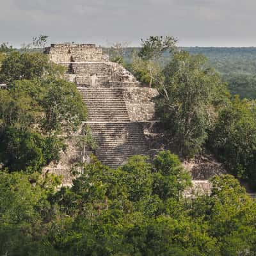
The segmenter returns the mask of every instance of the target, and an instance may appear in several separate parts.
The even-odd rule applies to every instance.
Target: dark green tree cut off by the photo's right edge
[[[256,182],[256,104],[235,97],[220,111],[211,148],[236,177]]]

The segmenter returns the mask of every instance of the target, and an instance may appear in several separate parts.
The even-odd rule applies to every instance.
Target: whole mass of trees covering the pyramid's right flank
[[[129,69],[142,83],[158,90],[156,111],[168,134],[168,141],[180,156],[190,159],[204,150],[211,150],[230,173],[254,186],[255,102],[239,101],[231,94],[234,90],[228,91],[230,84],[227,88],[221,74],[211,66],[214,54],[215,63],[219,57],[216,49],[204,50],[209,51],[210,63],[198,54],[204,52],[202,49],[190,49],[189,54],[176,47],[176,42],[172,36],[151,36],[142,40],[141,48],[132,55]],[[233,58],[230,51],[234,52],[234,49],[224,50]],[[219,64],[223,72],[229,68],[222,62]],[[239,76],[237,70],[236,74]],[[253,83],[247,73],[244,77],[239,76],[243,83]],[[232,82],[234,86],[236,81]],[[246,88],[243,93],[246,93]]]

